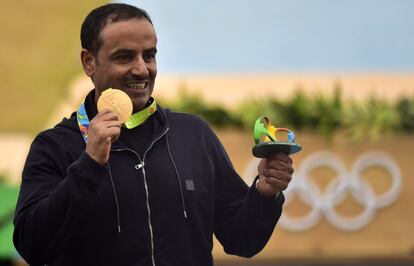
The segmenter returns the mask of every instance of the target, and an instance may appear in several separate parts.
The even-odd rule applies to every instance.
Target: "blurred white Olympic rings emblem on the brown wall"
[[[257,163],[258,160],[255,161],[256,169]],[[380,195],[376,195],[371,186],[361,178],[365,169],[375,166],[384,168],[391,176],[390,188]],[[248,167],[249,172],[252,167],[253,162]],[[337,173],[337,177],[327,185],[324,191],[321,191],[309,177],[309,173],[318,167],[330,168]],[[364,207],[364,210],[357,216],[343,216],[335,210],[335,207],[345,199],[348,191]],[[400,191],[400,170],[394,160],[385,153],[369,152],[362,155],[354,163],[350,172],[335,154],[314,153],[302,161],[284,192],[286,203],[292,200],[296,192],[296,195],[311,209],[300,218],[292,218],[282,213],[279,225],[288,231],[305,231],[315,226],[323,215],[337,229],[356,231],[367,226],[374,219],[378,209],[392,204],[400,195]]]

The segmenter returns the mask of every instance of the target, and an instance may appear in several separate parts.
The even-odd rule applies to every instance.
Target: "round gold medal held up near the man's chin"
[[[106,89],[98,99],[98,112],[109,109],[118,115],[119,120],[125,123],[132,115],[132,101],[129,96],[117,89]]]

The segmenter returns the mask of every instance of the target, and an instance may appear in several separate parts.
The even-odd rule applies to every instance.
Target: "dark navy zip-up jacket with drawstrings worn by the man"
[[[35,138],[14,219],[27,262],[210,266],[213,233],[229,254],[265,246],[283,194],[249,188],[200,118],[159,107],[145,123],[154,123],[145,154],[120,138],[106,166],[85,153],[75,113]]]

